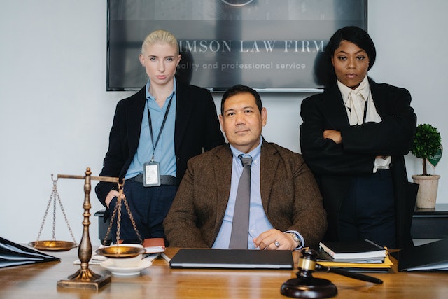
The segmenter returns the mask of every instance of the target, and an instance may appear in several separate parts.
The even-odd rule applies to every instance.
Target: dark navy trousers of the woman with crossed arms
[[[353,179],[339,211],[340,241],[370,239],[395,248],[395,200],[391,171]]]

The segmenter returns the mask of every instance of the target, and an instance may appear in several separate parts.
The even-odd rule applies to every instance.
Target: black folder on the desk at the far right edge
[[[447,271],[448,239],[402,249],[398,271]]]

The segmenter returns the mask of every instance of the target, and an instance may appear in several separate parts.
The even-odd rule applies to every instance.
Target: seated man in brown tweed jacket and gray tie
[[[258,92],[244,85],[227,90],[219,120],[229,144],[189,160],[164,221],[169,246],[316,248],[327,227],[321,194],[302,155],[263,139],[267,110]],[[246,208],[239,207],[244,158],[251,160]]]

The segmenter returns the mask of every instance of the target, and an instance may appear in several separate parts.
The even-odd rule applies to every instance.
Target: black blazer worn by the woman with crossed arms
[[[354,176],[372,174],[375,156],[392,157],[396,242],[412,246],[410,229],[417,186],[408,183],[404,155],[412,147],[416,115],[411,95],[403,88],[369,79],[380,123],[350,126],[341,92],[334,84],[322,94],[304,99],[300,125],[302,155],[316,176],[328,214],[327,239],[337,240],[339,207]],[[323,139],[324,130],[337,130],[342,144]]]

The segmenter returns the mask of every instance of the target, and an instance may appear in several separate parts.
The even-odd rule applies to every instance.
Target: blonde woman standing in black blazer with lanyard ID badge
[[[118,102],[100,173],[125,179],[123,191],[132,214],[122,202],[119,237],[125,242],[165,237],[162,223],[188,160],[224,144],[211,92],[175,77],[181,55],[171,32],[148,34],[139,60],[148,82]],[[123,197],[117,184],[99,182],[95,191],[109,216]],[[110,237],[116,242],[118,221],[112,222]]]

